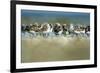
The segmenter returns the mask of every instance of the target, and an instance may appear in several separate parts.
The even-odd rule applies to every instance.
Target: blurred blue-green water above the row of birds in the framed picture
[[[62,11],[42,11],[42,10],[21,10],[22,24],[52,23],[63,24],[90,24],[90,14],[80,12],[62,12]]]

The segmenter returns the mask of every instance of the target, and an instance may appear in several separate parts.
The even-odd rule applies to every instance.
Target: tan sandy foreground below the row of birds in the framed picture
[[[21,62],[87,60],[90,40],[86,37],[22,38]]]

